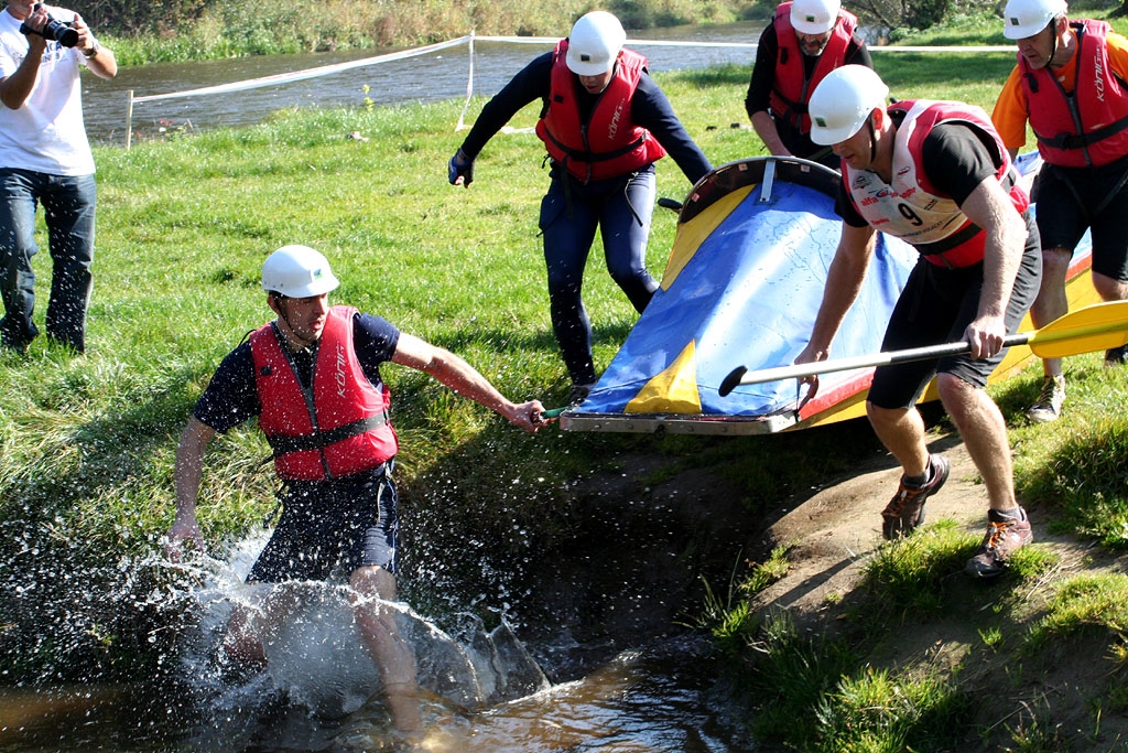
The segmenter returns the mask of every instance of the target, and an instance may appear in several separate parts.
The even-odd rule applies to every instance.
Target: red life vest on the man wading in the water
[[[321,481],[362,473],[398,449],[388,422],[386,385],[364,375],[353,348],[355,308],[329,308],[317,345],[312,387],[303,389],[273,324],[250,333],[258,427],[274,450],[281,479]]]

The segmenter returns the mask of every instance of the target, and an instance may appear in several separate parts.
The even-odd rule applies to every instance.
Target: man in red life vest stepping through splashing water
[[[400,332],[381,317],[329,306],[337,279],[308,246],[284,246],[263,264],[266,305],[277,315],[223,359],[176,452],[176,519],[166,553],[188,541],[203,548],[196,496],[204,448],[218,431],[252,417],[266,435],[282,481],[282,516],[247,583],[349,578],[353,611],[384,680],[393,723],[420,726],[415,659],[396,628],[397,452],[390,394],[380,366],[425,371],[456,393],[535,432],[539,401],[514,404],[453,353]],[[272,590],[254,611],[237,607],[224,653],[241,665],[267,659],[263,636],[290,608]]]

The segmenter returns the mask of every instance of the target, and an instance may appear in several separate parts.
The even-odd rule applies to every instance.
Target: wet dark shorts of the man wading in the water
[[[354,570],[396,571],[396,487],[390,463],[332,481],[289,481],[282,517],[247,583],[347,578]]]

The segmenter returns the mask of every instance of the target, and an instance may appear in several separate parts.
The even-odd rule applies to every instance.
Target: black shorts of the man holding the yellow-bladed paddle
[[[1006,331],[1017,332],[1019,324],[1038,295],[1042,255],[1038,228],[1026,216],[1026,246],[1022,265],[1006,306]],[[982,289],[982,264],[946,269],[920,259],[893,307],[883,351],[938,345],[963,340],[963,332],[976,318]],[[1006,349],[993,358],[976,359],[969,354],[941,359],[881,366],[874,371],[869,402],[878,408],[909,408],[937,373],[951,374],[976,387],[986,387],[987,378],[1003,361]]]

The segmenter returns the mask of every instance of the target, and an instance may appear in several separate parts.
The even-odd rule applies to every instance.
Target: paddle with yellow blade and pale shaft
[[[1040,330],[1007,335],[1003,344],[1006,348],[1029,344],[1030,350],[1039,358],[1064,358],[1119,348],[1128,344],[1128,300],[1114,300],[1079,308],[1050,322]],[[795,364],[758,371],[749,371],[747,366],[738,366],[721,382],[719,393],[724,397],[742,384],[763,384],[830,371],[959,356],[970,350],[971,344],[961,341],[924,348],[891,350],[871,356],[832,358],[826,361]]]

